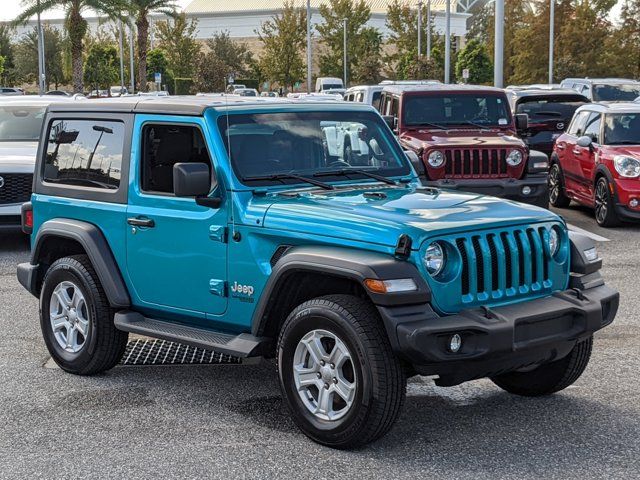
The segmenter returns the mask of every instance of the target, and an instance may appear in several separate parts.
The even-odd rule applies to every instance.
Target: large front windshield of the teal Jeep
[[[395,137],[373,112],[223,115],[218,128],[227,149],[230,140],[236,176],[252,186],[300,183],[264,178],[283,174],[317,175],[323,182],[344,181],[343,173],[335,177],[326,174],[351,168],[385,177],[411,172]],[[356,173],[349,174],[351,177],[369,178]]]

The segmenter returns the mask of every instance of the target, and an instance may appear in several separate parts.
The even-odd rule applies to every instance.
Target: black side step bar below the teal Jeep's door
[[[263,355],[271,341],[270,338],[254,337],[249,333],[232,335],[165,322],[147,318],[138,312],[129,310],[117,312],[114,316],[114,323],[118,330],[125,332],[184,343],[241,358]]]

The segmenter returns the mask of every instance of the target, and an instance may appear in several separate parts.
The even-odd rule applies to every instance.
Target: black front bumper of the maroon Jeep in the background
[[[518,202],[533,205],[544,204],[548,199],[549,186],[547,174],[529,174],[522,179],[492,178],[492,179],[443,179],[426,180],[422,183],[429,187],[449,188],[463,190],[465,192],[491,195],[493,197],[507,198]],[[524,187],[529,187],[531,192],[525,195]]]

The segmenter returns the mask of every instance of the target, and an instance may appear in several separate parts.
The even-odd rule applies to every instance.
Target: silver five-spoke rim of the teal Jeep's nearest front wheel
[[[302,403],[316,418],[339,420],[353,405],[355,365],[334,333],[312,330],[300,339],[293,356],[293,379]]]

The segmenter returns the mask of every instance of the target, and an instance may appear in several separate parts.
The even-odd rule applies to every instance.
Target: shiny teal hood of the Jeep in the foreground
[[[336,191],[276,194],[271,199],[264,216],[266,228],[388,247],[395,246],[398,236],[406,233],[416,249],[438,234],[559,219],[530,205],[415,186],[359,185]],[[255,208],[262,210],[264,204]]]

